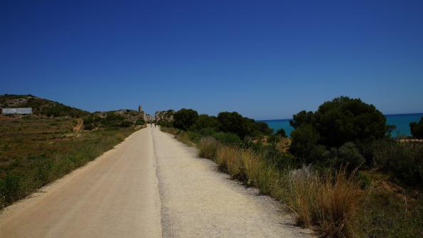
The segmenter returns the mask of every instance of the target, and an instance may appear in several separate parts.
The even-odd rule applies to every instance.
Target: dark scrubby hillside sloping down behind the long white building
[[[3,94],[0,95],[0,108],[32,107],[33,114],[48,117],[84,117],[90,112],[75,107],[69,107],[60,102],[54,102],[31,94]]]

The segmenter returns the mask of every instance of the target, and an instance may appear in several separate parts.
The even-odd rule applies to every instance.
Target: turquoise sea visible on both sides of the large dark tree
[[[389,114],[385,115],[388,125],[395,125],[397,129],[393,131],[392,136],[411,136],[409,131],[409,123],[412,121],[419,121],[423,117],[423,113],[414,113],[414,114]],[[279,119],[279,120],[263,120],[266,122],[275,132],[281,128],[287,132],[289,136],[291,131],[294,130],[289,126],[289,119]]]

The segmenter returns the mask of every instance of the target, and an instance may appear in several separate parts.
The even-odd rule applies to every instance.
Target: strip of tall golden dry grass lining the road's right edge
[[[200,156],[214,159],[232,178],[285,202],[299,225],[316,225],[324,237],[353,237],[355,212],[363,198],[354,173],[342,168],[319,175],[310,167],[281,171],[260,153],[222,146],[210,138],[202,139],[198,148]]]

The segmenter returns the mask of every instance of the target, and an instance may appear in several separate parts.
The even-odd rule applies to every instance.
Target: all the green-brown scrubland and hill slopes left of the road
[[[96,112],[32,95],[2,95],[1,107],[33,107],[35,114],[0,118],[0,210],[61,178],[132,134],[134,112]],[[77,117],[85,129],[73,131]],[[139,119],[138,119],[139,120]],[[95,129],[95,130],[92,130]]]

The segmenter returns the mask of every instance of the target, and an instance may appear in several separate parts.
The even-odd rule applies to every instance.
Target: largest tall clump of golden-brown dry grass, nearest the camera
[[[317,225],[326,237],[353,237],[353,221],[363,198],[354,173],[345,168],[318,175],[309,167],[289,175],[287,204],[299,225]]]

